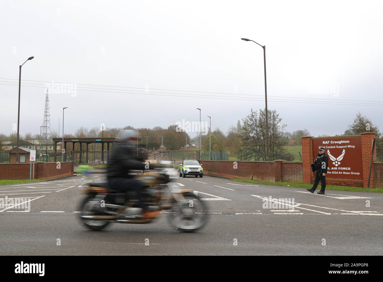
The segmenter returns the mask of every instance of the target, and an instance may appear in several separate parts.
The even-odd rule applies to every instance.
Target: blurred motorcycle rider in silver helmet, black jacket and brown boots
[[[150,164],[149,167],[146,167],[147,164],[134,155],[133,148],[136,147],[136,130],[121,130],[118,135],[119,138],[116,139],[116,146],[108,162],[109,186],[111,189],[118,191],[134,190],[139,201],[139,207],[143,210],[142,219],[155,218],[160,212],[150,211],[149,207],[141,202],[140,181],[128,175],[130,170],[144,170],[146,168],[154,168],[155,166]]]

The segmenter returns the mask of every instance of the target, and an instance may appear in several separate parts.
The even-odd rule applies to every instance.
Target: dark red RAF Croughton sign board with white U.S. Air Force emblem
[[[319,147],[329,157],[327,178],[363,179],[362,141],[355,137],[313,138],[313,162],[318,155]],[[315,176],[315,173],[313,173]]]

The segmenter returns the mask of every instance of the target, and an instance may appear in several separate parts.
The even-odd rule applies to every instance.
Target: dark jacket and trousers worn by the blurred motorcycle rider
[[[143,170],[145,163],[134,156],[128,144],[116,144],[110,160],[108,162],[108,183],[111,189],[118,191],[134,190],[137,199],[141,199],[141,189],[139,180],[132,179],[128,175],[130,170]],[[142,206],[141,208],[146,208]]]

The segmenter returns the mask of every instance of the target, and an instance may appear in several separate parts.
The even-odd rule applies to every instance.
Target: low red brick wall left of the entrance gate
[[[73,162],[62,162],[61,169],[57,169],[56,166],[56,163],[36,162],[34,178],[46,179],[73,174]],[[29,163],[0,163],[0,180],[3,179],[29,179]]]

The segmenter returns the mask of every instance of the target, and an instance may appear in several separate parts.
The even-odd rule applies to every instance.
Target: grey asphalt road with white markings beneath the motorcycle
[[[102,181],[105,175],[92,178]],[[83,176],[71,176],[0,186],[0,198],[30,198],[27,212],[0,206],[1,254],[383,254],[381,193],[326,190],[317,195],[302,188],[247,185],[206,175],[180,177],[173,185],[184,185],[206,199],[210,218],[200,231],[177,233],[166,216],[150,224],[111,223],[103,231],[89,231],[76,213],[86,182]]]

